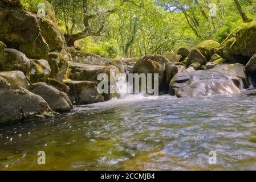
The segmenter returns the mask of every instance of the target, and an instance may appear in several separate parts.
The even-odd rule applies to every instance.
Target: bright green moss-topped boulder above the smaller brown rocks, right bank
[[[220,47],[220,43],[214,41],[214,40],[205,40],[204,42],[200,43],[195,48],[198,49],[202,55],[206,57],[207,60],[210,60],[210,58],[214,55],[214,49]]]

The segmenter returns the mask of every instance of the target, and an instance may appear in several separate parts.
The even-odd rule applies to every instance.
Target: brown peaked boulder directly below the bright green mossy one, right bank
[[[207,63],[207,59],[198,49],[192,49],[189,53],[188,59],[186,60],[186,67],[188,68],[192,63],[205,65]]]

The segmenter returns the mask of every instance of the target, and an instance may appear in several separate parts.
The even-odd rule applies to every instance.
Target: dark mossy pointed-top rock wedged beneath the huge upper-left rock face
[[[50,49],[42,35],[39,34],[34,42],[21,44],[19,46],[19,51],[25,53],[30,59],[47,59]]]

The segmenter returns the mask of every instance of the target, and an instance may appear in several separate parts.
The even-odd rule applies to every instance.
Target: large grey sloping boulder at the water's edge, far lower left
[[[0,77],[0,123],[44,118],[54,113],[42,97]]]

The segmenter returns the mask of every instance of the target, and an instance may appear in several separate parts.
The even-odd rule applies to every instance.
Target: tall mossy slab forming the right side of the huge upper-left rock
[[[38,24],[50,52],[62,51],[64,49],[64,40],[56,24],[52,20],[43,17],[39,19]]]

